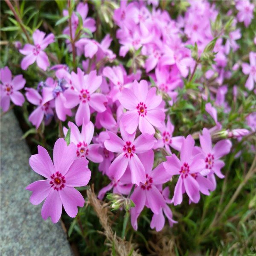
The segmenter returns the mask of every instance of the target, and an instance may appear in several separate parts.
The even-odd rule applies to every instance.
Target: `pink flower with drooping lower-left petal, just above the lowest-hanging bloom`
[[[172,176],[166,172],[163,164],[152,170],[154,164],[153,150],[139,154],[139,158],[145,168],[146,181],[135,186],[131,195],[131,200],[135,204],[135,207],[131,208],[131,223],[135,230],[137,230],[137,217],[144,206],[150,208],[156,214],[159,214],[160,209],[165,207],[165,199],[157,185],[166,183]]]

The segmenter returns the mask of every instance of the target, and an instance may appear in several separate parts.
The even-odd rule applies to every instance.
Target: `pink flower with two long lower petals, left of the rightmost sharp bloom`
[[[198,203],[200,199],[199,185],[192,175],[203,171],[205,163],[202,154],[192,157],[194,145],[195,140],[188,135],[181,146],[180,160],[175,154],[172,154],[171,157],[166,157],[167,161],[163,163],[164,168],[171,175],[180,175],[172,198],[174,205],[182,202],[182,194],[185,191],[192,202]]]

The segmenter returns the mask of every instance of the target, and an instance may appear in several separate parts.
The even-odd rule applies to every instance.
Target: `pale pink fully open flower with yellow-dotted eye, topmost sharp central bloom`
[[[154,134],[154,126],[160,128],[163,126],[165,113],[159,109],[163,101],[160,95],[156,95],[156,88],[148,90],[148,82],[141,80],[140,83],[134,81],[133,88],[123,89],[119,102],[126,111],[122,117],[125,131],[132,134],[139,126],[142,133]]]

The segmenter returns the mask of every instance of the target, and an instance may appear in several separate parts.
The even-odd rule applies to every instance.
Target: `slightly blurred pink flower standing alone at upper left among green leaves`
[[[44,38],[45,33],[37,29],[33,33],[32,37],[35,45],[25,44],[23,49],[20,49],[20,53],[26,55],[26,57],[22,59],[20,67],[23,70],[27,70],[29,65],[33,64],[36,61],[38,67],[46,71],[47,67],[49,67],[50,64],[48,61],[48,56],[44,52],[44,49],[49,44],[54,42],[54,35],[50,33],[49,35],[47,35],[46,38]]]

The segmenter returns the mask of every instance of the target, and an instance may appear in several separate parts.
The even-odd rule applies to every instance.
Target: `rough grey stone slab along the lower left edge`
[[[12,111],[1,117],[2,256],[73,256],[61,223],[44,221],[40,205],[32,205],[30,183],[42,179],[29,166],[30,152]]]

